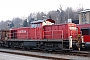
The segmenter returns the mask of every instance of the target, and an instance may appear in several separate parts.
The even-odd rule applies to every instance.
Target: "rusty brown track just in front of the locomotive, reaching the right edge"
[[[72,55],[72,56],[82,56],[82,57],[90,57],[90,51],[41,51],[41,50],[31,50],[35,52],[45,52],[45,53],[50,53],[50,54],[63,54],[63,55]]]

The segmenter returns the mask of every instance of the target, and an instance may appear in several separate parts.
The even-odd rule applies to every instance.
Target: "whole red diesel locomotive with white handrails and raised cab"
[[[71,50],[82,43],[74,23],[54,24],[52,19],[31,22],[30,27],[14,28],[1,39],[2,46],[42,50]],[[80,39],[79,39],[80,38]],[[77,45],[78,44],[78,45]]]

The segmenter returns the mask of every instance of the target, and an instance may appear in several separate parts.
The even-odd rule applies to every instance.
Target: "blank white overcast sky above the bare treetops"
[[[62,5],[63,9],[72,7],[90,8],[89,0],[0,0],[0,21],[13,17],[27,17],[33,12],[48,12]]]

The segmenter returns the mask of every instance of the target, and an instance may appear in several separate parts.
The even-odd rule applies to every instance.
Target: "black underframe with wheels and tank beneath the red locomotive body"
[[[40,49],[48,51],[61,51],[69,49],[69,40],[7,40],[1,44],[10,48]],[[76,47],[76,41],[73,40],[73,47]]]

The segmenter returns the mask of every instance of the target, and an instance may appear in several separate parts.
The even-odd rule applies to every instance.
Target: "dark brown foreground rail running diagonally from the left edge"
[[[52,56],[44,56],[44,55],[38,55],[38,54],[28,54],[28,53],[23,53],[21,51],[15,52],[15,51],[9,51],[9,50],[3,50],[0,49],[0,52],[4,52],[4,53],[10,53],[10,54],[17,54],[17,55],[23,55],[23,56],[30,56],[30,57],[38,57],[38,58],[44,58],[44,59],[50,59],[50,60],[70,60],[70,59],[66,59],[66,58],[59,58],[59,57],[52,57]]]

